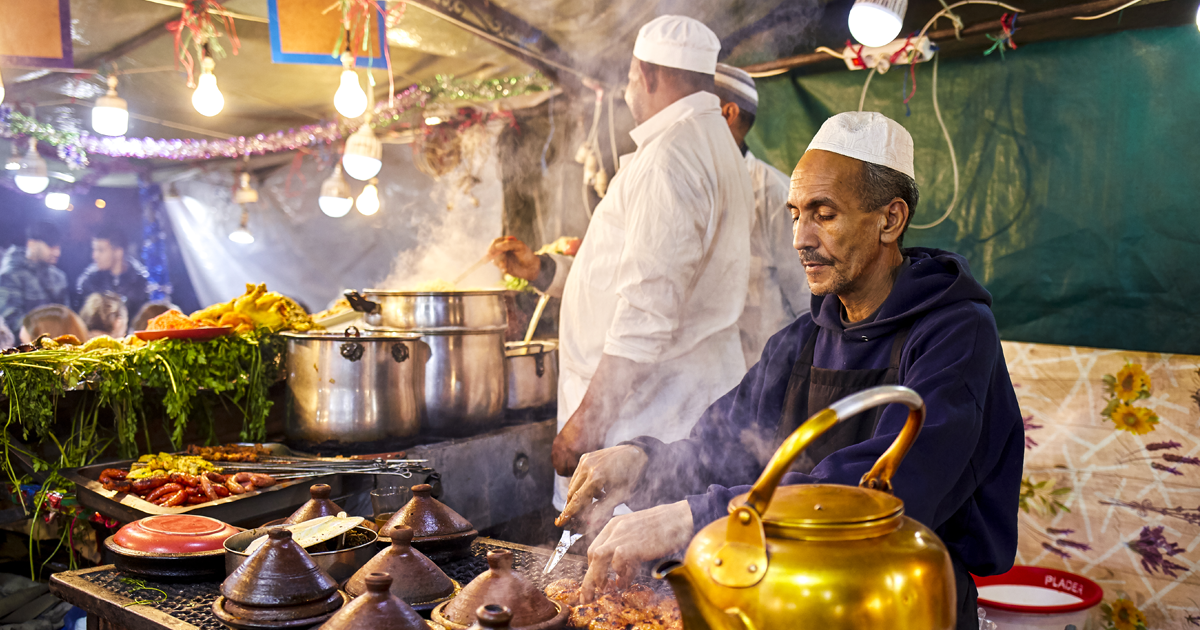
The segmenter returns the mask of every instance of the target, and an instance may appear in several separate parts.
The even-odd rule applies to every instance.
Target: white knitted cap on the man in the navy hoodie
[[[805,151],[821,149],[899,170],[917,179],[908,130],[878,112],[845,112],[821,125]]]

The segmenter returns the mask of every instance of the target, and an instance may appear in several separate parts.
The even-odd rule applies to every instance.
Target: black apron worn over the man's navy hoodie
[[[871,370],[826,370],[812,365],[816,350],[817,328],[809,335],[800,350],[799,359],[792,366],[792,376],[787,380],[787,396],[784,398],[784,413],[775,432],[775,445],[782,444],[800,424],[830,404],[876,385],[896,385],[900,383],[900,354],[908,340],[908,326],[896,331],[892,342],[892,358],[886,368]],[[884,407],[868,409],[853,418],[846,419],[818,437],[804,450],[792,464],[796,473],[811,473],[822,460],[833,452],[865,442],[875,434],[875,428],[883,416]],[[958,593],[956,630],[978,630],[979,616],[976,610],[977,590],[962,562],[950,553],[954,565],[955,592]]]

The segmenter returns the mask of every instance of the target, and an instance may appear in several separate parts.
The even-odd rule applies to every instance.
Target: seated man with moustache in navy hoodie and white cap
[[[593,498],[600,503],[588,512],[599,520],[620,503],[646,508],[613,518],[593,542],[584,599],[610,566],[628,580],[725,517],[811,414],[856,391],[900,384],[920,394],[928,416],[893,491],[946,542],[958,628],[977,628],[968,571],[995,575],[1013,564],[1025,436],[991,295],[962,257],[901,248],[918,200],[912,154],[908,132],[877,113],[839,114],[814,137],[788,194],[812,312],[770,338],[689,438],[636,438],[580,461],[559,524]],[[784,484],[858,485],[906,416],[893,404],[836,425]]]

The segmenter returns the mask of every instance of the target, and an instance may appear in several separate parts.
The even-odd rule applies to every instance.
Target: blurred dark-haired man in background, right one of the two
[[[145,266],[127,254],[130,242],[113,226],[101,226],[91,238],[91,264],[76,281],[74,306],[83,308],[92,293],[115,293],[125,299],[127,312],[136,313],[150,299]]]

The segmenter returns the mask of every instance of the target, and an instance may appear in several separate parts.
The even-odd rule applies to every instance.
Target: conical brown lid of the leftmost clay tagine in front
[[[221,583],[221,594],[244,606],[299,606],[335,592],[337,582],[282,527]]]

